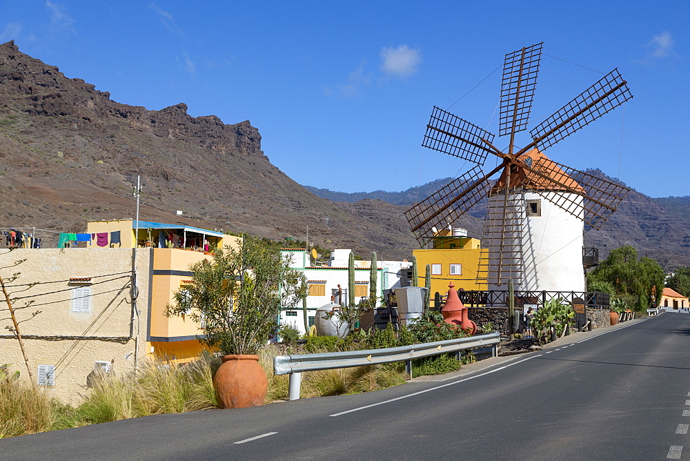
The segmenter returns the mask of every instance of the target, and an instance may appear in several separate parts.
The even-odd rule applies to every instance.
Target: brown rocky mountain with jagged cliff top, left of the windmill
[[[119,104],[55,66],[0,45],[0,227],[86,229],[89,219],[141,219],[310,240],[379,259],[411,255],[403,208],[317,197],[270,164],[249,121]],[[182,210],[183,215],[176,215]],[[52,232],[49,232],[52,231]],[[4,243],[4,242],[3,242]]]

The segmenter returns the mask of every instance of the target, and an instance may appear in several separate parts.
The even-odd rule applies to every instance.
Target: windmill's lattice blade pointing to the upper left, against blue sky
[[[433,107],[422,146],[483,165],[494,135],[451,112]]]

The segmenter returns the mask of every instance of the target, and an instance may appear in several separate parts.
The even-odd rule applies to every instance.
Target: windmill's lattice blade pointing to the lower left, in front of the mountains
[[[490,175],[496,171],[497,169],[493,170]],[[475,166],[405,212],[422,247],[433,239],[433,227],[445,228],[447,223],[452,224],[486,197],[489,193],[487,179],[490,175],[483,175],[482,168]]]

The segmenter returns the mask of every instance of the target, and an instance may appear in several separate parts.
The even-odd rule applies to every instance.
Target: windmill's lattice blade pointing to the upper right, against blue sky
[[[533,141],[516,155],[522,155],[535,147],[544,150],[553,146],[631,97],[633,95],[628,89],[627,81],[623,80],[618,69],[611,70],[600,81],[530,130]]]

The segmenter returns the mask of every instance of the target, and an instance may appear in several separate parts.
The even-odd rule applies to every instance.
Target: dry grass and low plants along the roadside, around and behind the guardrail
[[[267,346],[259,351],[259,362],[268,375],[266,403],[288,397],[288,375],[273,375],[276,355],[377,349],[462,335],[462,331],[442,322],[439,313],[430,313],[410,328],[402,327],[398,331],[389,325],[379,331],[358,331],[344,339],[309,336],[304,345]],[[471,355],[463,355],[461,362],[471,362]],[[414,360],[413,374],[448,373],[459,369],[461,362],[452,354]],[[217,408],[213,374],[220,363],[216,355],[204,353],[187,364],[148,362],[136,377],[102,375],[78,406],[61,404],[50,398],[46,389],[20,380],[18,373],[10,374],[9,366],[4,366],[5,371],[0,375],[0,438],[139,416]],[[402,384],[407,379],[402,363],[311,371],[303,375],[302,398],[376,391]]]

